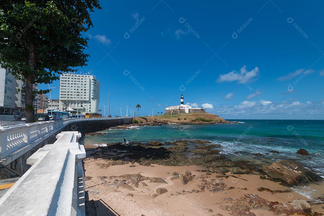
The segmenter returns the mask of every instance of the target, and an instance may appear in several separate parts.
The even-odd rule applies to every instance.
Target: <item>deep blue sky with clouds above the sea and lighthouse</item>
[[[79,72],[97,76],[112,115],[136,104],[156,114],[184,94],[226,119],[324,119],[324,2],[100,4]]]

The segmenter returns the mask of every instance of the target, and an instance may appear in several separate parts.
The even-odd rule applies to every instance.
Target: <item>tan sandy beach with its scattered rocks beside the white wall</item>
[[[105,148],[87,149],[84,160],[86,191],[93,200],[88,204],[96,207],[98,216],[283,216],[289,214],[284,203],[294,200],[305,200],[298,205],[306,213],[289,215],[324,212],[322,202],[316,203],[280,182],[261,179],[254,171],[220,174],[206,171],[202,165],[148,164],[144,159],[137,163],[125,150],[119,149],[117,154],[103,151]],[[322,183],[316,184],[323,188]]]

